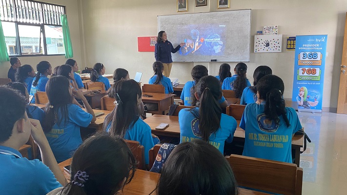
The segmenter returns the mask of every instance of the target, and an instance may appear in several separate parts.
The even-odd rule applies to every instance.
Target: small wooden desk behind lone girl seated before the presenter
[[[163,115],[166,110],[174,102],[174,94],[156,94],[156,93],[143,93],[147,95],[152,95],[153,97],[144,97],[142,96],[143,103],[156,103],[158,104],[158,111],[152,111],[152,113],[157,115]]]

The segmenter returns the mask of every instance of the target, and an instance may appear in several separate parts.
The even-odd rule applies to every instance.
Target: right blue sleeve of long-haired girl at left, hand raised
[[[69,120],[81,127],[88,127],[89,123],[93,119],[93,115],[85,112],[76,104],[70,104],[71,106],[68,108],[69,112],[74,113],[73,115],[69,115]]]

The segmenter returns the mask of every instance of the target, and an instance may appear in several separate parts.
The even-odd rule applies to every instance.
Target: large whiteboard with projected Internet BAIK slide
[[[249,62],[251,10],[158,16],[158,32],[165,31],[174,47],[174,62]]]

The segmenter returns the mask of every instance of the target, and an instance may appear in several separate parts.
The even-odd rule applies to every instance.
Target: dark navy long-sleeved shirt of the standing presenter
[[[180,45],[173,48],[170,41],[161,41],[155,44],[154,58],[156,61],[161,61],[162,63],[171,63],[171,52],[176,53],[180,49]]]

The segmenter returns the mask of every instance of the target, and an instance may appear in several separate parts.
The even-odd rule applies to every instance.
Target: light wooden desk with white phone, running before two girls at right
[[[178,117],[166,116],[166,115],[153,115],[144,119],[152,130],[152,133],[158,136],[167,137],[180,137],[180,124],[178,123]],[[156,130],[155,128],[160,123],[169,123],[170,125],[164,130]],[[234,133],[233,141],[245,143],[245,131],[239,127],[240,120],[237,121],[236,131]],[[304,136],[294,135],[291,141],[291,148],[295,150],[295,164],[300,164],[300,148],[304,146]]]

